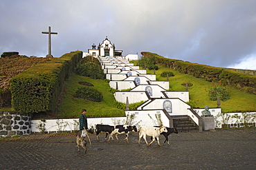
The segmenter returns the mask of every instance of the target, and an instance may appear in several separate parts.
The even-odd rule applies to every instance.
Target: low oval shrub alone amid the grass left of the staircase
[[[100,102],[103,99],[102,93],[93,87],[80,87],[75,92],[76,98],[82,98],[93,102]]]

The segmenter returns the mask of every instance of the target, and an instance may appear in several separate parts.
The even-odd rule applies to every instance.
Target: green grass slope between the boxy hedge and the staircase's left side
[[[81,81],[93,84],[95,89],[102,92],[102,102],[74,98],[76,89],[84,86],[78,83]],[[114,106],[116,100],[108,89],[109,84],[105,80],[73,74],[65,83],[65,93],[57,107],[56,116],[58,118],[78,118],[82,109],[87,110],[86,116],[88,117],[125,116],[125,111]]]

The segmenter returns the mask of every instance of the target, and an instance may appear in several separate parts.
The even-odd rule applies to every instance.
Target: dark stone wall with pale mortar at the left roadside
[[[0,112],[0,136],[28,135],[31,132],[30,114],[20,114],[17,111]]]

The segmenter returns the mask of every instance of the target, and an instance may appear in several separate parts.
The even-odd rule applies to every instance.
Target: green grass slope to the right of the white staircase
[[[217,85],[218,83],[208,82],[203,80],[203,78],[196,78],[190,74],[181,74],[170,68],[158,67],[159,69],[156,70],[157,81],[167,81],[167,79],[161,77],[160,74],[161,72],[171,71],[175,75],[169,78],[170,89],[172,91],[185,91],[185,87],[181,84],[192,83],[192,87],[189,87],[190,100],[196,107],[203,108],[205,105],[217,107],[217,101],[210,100],[208,90],[212,88],[213,84]],[[147,73],[154,74],[154,70],[147,70]],[[256,111],[255,94],[248,94],[231,85],[227,85],[226,88],[228,92],[230,92],[231,98],[225,102],[221,101],[221,109],[223,112]]]

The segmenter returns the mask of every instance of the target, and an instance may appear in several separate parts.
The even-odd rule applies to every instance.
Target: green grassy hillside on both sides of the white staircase
[[[136,65],[136,63],[137,61],[134,61],[134,65]],[[192,83],[192,87],[189,87],[189,92],[190,104],[194,108],[203,108],[205,105],[217,107],[217,101],[210,100],[208,90],[218,83],[205,81],[203,78],[196,78],[190,74],[182,74],[171,68],[163,67],[162,65],[158,65],[158,68],[159,69],[156,70],[156,81],[167,80],[160,76],[162,72],[171,71],[174,73],[175,76],[169,78],[170,90],[172,91],[185,91],[185,86],[182,84]],[[154,74],[154,71],[147,70],[147,74]],[[102,102],[91,102],[89,100],[73,97],[76,89],[84,86],[79,82],[91,83],[95,89],[102,92]],[[35,118],[78,118],[83,108],[87,109],[87,116],[89,117],[125,116],[124,110],[116,108],[116,100],[113,94],[109,92],[109,88],[109,84],[105,80],[95,80],[73,73],[64,84],[64,91],[55,113],[35,114]],[[234,85],[226,85],[226,88],[230,92],[230,99],[225,102],[221,101],[223,112],[256,111],[255,94],[248,94],[244,90],[237,89]],[[0,111],[1,110],[3,110],[3,107],[0,107]]]

